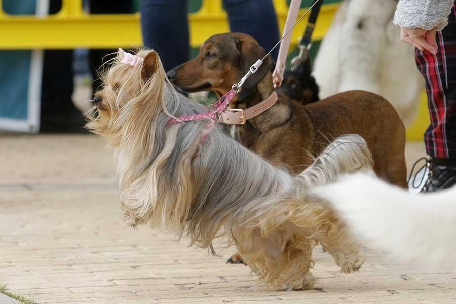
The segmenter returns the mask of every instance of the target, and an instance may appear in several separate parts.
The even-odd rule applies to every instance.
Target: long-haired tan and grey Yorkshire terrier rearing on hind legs
[[[178,94],[158,54],[119,49],[95,94],[87,128],[116,156],[121,202],[131,226],[150,223],[209,248],[235,244],[260,281],[308,289],[320,243],[345,273],[363,263],[360,244],[310,189],[370,167],[358,135],[337,138],[296,177],[229,138],[211,119],[170,124],[208,108]]]

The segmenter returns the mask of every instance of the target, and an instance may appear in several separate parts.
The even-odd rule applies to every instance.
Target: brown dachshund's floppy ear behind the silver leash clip
[[[241,40],[240,42],[240,52],[241,52],[241,69],[243,75],[245,75],[252,64],[254,64],[258,59],[261,59],[266,55],[264,49],[253,39]],[[255,87],[264,76],[271,69],[271,58],[270,56],[266,57],[263,60],[263,64],[258,68],[256,73],[250,75],[250,77],[244,83],[244,88],[251,89]],[[272,78],[271,78],[272,81]]]

